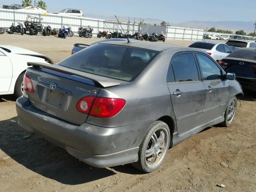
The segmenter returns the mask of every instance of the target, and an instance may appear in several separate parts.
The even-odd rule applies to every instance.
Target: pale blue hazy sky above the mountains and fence
[[[34,3],[34,0],[32,0]],[[197,21],[255,21],[256,0],[44,0],[47,10],[81,9],[102,16],[157,18],[172,23]],[[0,0],[2,4],[21,4],[21,0]]]

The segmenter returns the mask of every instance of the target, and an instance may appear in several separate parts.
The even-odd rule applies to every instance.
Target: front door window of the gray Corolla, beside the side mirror
[[[202,54],[196,54],[198,63],[201,67],[203,80],[221,79],[220,68],[210,58]]]

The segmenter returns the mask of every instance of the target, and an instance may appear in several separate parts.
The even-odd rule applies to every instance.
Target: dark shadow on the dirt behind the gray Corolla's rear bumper
[[[68,154],[17,124],[18,117],[0,121],[0,150],[26,168],[62,184],[77,185],[112,176],[117,172],[143,174],[130,164],[95,168]]]

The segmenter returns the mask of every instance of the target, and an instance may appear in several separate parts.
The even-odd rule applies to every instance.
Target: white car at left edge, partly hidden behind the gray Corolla
[[[27,62],[53,64],[52,60],[42,54],[27,49],[0,45],[0,95],[23,93],[23,76],[28,68]]]

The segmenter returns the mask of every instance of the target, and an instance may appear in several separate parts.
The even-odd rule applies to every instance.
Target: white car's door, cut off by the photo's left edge
[[[0,93],[8,92],[12,82],[12,62],[0,51]]]

